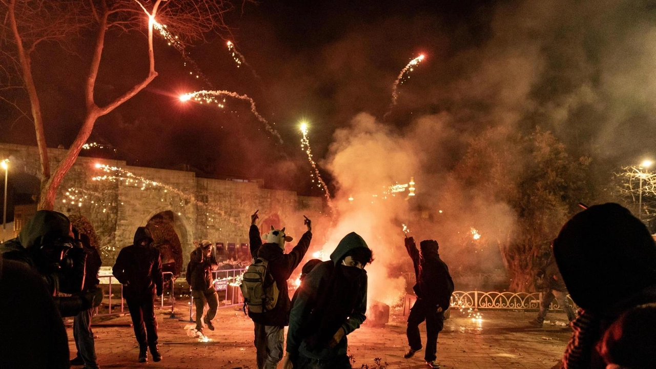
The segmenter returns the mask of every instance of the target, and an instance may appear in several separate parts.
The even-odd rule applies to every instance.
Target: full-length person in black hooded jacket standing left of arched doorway
[[[157,349],[157,321],[155,320],[155,293],[162,294],[162,261],[159,250],[152,247],[153,238],[146,227],[136,228],[134,244],[121,249],[112,272],[123,284],[123,297],[127,301],[139,343],[139,362],[162,359]]]

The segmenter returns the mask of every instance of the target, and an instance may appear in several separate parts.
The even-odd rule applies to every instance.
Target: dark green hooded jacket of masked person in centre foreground
[[[354,308],[346,321],[342,324],[345,335],[337,346],[333,348],[325,347],[323,349],[310,351],[308,349],[304,337],[302,337],[302,326],[304,321],[310,315],[310,311],[314,309],[315,304],[321,297],[321,293],[325,292],[329,286],[327,282],[331,277],[331,272],[337,265],[342,263],[344,255],[355,248],[369,248],[365,240],[363,240],[356,232],[351,232],[344,236],[331,253],[330,261],[324,261],[317,265],[310,274],[303,280],[302,288],[298,290],[297,299],[291,309],[289,316],[289,331],[287,332],[287,352],[293,357],[298,354],[319,360],[327,360],[346,355],[346,347],[348,345],[346,335],[358,329],[360,324],[367,318],[367,274],[363,271],[364,283],[361,284],[359,295],[362,296],[361,301]],[[337,333],[337,332],[336,332]]]

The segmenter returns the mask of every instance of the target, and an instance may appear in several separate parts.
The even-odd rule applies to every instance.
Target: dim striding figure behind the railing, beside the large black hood
[[[554,247],[554,243],[551,243],[551,247]],[[567,287],[565,282],[563,282],[563,276],[560,275],[558,271],[558,265],[556,264],[556,258],[554,254],[551,253],[549,256],[546,265],[539,269],[537,272],[539,278],[544,278],[548,291],[544,294],[542,301],[540,302],[540,310],[537,313],[537,317],[533,320],[529,320],[529,325],[534,327],[541,327],[544,323],[544,317],[549,311],[549,305],[554,299],[558,300],[558,306],[561,307],[567,313],[567,320],[571,322],[576,318],[572,307],[567,303]]]

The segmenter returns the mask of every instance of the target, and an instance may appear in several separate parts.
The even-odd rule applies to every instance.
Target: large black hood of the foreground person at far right
[[[554,240],[554,257],[573,301],[592,313],[656,284],[656,244],[619,204],[574,215]]]

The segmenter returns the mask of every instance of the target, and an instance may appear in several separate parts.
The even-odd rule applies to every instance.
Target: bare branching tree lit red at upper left
[[[41,159],[39,209],[54,207],[58,186],[75,163],[83,144],[89,139],[96,120],[134,97],[157,76],[153,49],[154,28],[162,34],[167,33],[167,30],[174,32],[175,36],[169,43],[173,42],[184,53],[186,43],[203,40],[207,32],[227,31],[223,16],[234,8],[229,0],[143,0],[143,3],[139,0],[0,0],[0,6],[4,8],[0,8],[0,14],[5,14],[0,24],[0,51],[9,60],[7,64],[15,67],[30,100],[31,119]],[[163,28],[162,24],[168,27]],[[91,32],[94,33],[95,41],[90,55],[91,63],[86,72],[87,78],[84,86],[81,86],[85,96],[82,126],[66,156],[58,163],[54,173],[51,173],[44,133],[48,122],[43,118],[31,58],[39,51],[39,45],[45,43],[55,43],[62,49],[72,51],[75,42],[85,39]],[[134,83],[133,87],[99,106],[95,87],[106,39],[125,32],[146,34],[148,71],[144,71],[146,76]],[[5,68],[1,72],[7,76],[11,74]],[[14,104],[6,98],[3,100]],[[18,107],[17,104],[14,106]]]

